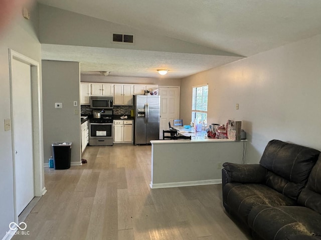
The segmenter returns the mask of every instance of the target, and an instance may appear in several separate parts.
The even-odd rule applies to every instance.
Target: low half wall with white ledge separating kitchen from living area
[[[205,138],[150,142],[151,188],[222,183],[222,164],[242,162],[243,140]]]

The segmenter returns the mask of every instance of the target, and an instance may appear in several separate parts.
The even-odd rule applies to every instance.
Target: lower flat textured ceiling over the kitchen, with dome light
[[[82,74],[110,71],[113,76],[159,77],[159,69],[170,69],[166,76],[183,78],[240,59],[237,56],[204,55],[102,47],[42,44],[46,59],[79,61]],[[165,77],[165,76],[163,76]]]

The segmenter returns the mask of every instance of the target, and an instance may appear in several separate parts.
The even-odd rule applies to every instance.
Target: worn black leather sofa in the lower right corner
[[[321,240],[319,153],[271,140],[259,164],[224,163],[226,211],[250,229],[253,239]]]

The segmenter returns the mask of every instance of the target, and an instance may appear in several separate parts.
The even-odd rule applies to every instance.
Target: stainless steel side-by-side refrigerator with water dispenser
[[[159,103],[157,95],[134,95],[134,144],[148,144],[159,139]]]

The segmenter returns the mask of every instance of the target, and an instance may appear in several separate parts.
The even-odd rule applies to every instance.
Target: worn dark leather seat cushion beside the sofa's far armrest
[[[251,209],[260,204],[296,205],[296,201],[263,184],[230,182],[223,187],[223,201],[231,213],[247,223]]]

